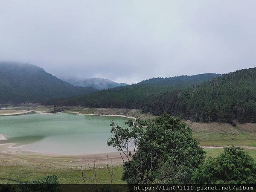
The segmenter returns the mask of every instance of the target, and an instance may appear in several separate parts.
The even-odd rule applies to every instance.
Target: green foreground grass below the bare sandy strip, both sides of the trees
[[[223,148],[207,148],[204,149],[207,152],[207,157],[216,157]],[[245,149],[254,160],[256,160],[255,149]],[[92,172],[84,167],[88,177],[93,177]],[[81,166],[59,166],[59,165],[42,165],[40,163],[21,164],[21,165],[3,165],[0,163],[0,183],[19,183],[20,181],[33,180],[37,177],[45,177],[45,175],[58,175],[60,183],[84,183],[81,174]],[[114,172],[116,173],[113,183],[125,183],[121,180],[122,177],[122,165],[114,166]],[[98,183],[109,183],[110,175],[105,165],[98,166],[96,169],[96,175]],[[89,183],[89,181],[87,181]]]

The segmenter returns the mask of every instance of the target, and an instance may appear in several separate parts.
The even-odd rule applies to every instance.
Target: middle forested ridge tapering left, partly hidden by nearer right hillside
[[[145,113],[159,114],[160,105],[168,106],[165,101],[172,98],[177,90],[202,83],[219,76],[218,74],[200,74],[196,76],[178,76],[173,78],[154,78],[137,84],[97,91],[84,96],[67,99],[53,99],[48,105],[83,105],[96,108],[131,108],[142,109]],[[194,83],[195,82],[195,83]],[[160,97],[165,96],[163,100]],[[160,102],[160,103],[157,103]],[[159,105],[159,106],[157,106]]]

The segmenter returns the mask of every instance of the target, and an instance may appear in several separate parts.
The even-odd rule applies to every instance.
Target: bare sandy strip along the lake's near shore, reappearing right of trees
[[[22,150],[19,147],[13,147],[13,143],[0,144],[0,161],[3,165],[9,166],[9,163],[15,165],[52,165],[52,166],[67,166],[67,167],[81,167],[81,165],[87,166],[93,165],[94,160],[99,166],[106,166],[107,157],[108,163],[113,163],[113,165],[122,165],[123,160],[119,152],[109,152],[109,153],[98,153],[98,154],[50,154],[35,151]],[[246,146],[241,146],[244,148],[249,148]],[[223,147],[207,147],[204,148],[223,148]],[[250,149],[256,149],[250,147]],[[126,161],[126,157],[123,157]],[[6,162],[6,163],[4,163]]]

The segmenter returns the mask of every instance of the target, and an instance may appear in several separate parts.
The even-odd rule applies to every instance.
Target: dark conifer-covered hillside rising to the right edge
[[[256,123],[256,67],[226,73],[177,93],[177,105],[165,111],[201,122]]]

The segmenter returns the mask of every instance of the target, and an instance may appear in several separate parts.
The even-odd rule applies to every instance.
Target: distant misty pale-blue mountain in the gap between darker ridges
[[[74,86],[81,86],[81,87],[93,87],[97,90],[102,89],[109,89],[113,87],[121,87],[128,85],[126,83],[116,83],[114,81],[111,81],[109,79],[102,79],[102,78],[87,78],[87,79],[66,79],[68,83],[74,85]]]

